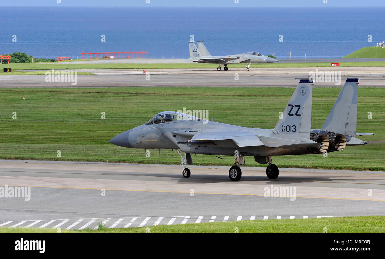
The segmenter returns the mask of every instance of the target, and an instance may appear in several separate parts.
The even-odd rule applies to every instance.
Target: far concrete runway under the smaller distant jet
[[[384,67],[262,67],[232,68],[228,71],[213,69],[148,69],[149,77],[142,69],[78,69],[70,71],[92,72],[97,75],[77,76],[77,84],[71,82],[45,82],[45,76],[3,75],[0,87],[161,87],[161,86],[216,86],[216,87],[295,87],[295,76],[308,76],[310,71],[341,71],[341,76],[359,77],[360,87],[384,87]],[[145,69],[145,67],[144,67]],[[234,80],[238,74],[238,80]],[[149,80],[146,80],[149,79]],[[344,81],[341,81],[342,86]],[[336,86],[334,82],[314,82],[314,86]]]

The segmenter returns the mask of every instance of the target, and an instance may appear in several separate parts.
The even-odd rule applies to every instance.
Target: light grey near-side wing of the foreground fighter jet
[[[259,138],[248,132],[235,132],[235,131],[217,131],[217,132],[202,132],[192,136],[191,140],[187,141],[189,144],[199,144],[201,141],[214,141],[214,140],[233,140],[239,147],[243,146],[263,146]]]

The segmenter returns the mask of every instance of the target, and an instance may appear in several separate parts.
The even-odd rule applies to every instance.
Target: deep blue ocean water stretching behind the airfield
[[[187,59],[190,35],[204,40],[211,55],[255,50],[278,58],[288,58],[290,51],[292,58],[338,58],[385,40],[384,7],[0,9],[0,54],[39,58],[147,51],[150,58]]]

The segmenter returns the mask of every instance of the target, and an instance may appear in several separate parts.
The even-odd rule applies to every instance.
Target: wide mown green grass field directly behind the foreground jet
[[[214,121],[255,128],[274,128],[293,88],[287,87],[112,87],[0,89],[0,158],[180,164],[177,152],[114,146],[108,141],[146,123],[160,111],[207,109]],[[321,128],[340,87],[315,87],[312,127]],[[26,100],[22,101],[23,96]],[[362,87],[358,92],[358,132],[385,140],[385,89]],[[12,113],[17,119],[12,119]],[[105,112],[105,119],[101,113]],[[368,112],[372,119],[368,119]],[[57,150],[61,158],[57,158]],[[385,170],[385,143],[348,147],[323,155],[274,156],[278,167]],[[226,165],[215,156],[193,156],[195,165]],[[245,166],[262,166],[246,157]]]

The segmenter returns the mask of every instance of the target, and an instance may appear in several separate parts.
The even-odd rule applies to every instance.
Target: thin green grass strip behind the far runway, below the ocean
[[[368,61],[368,62],[343,62],[341,59],[340,66],[344,67],[379,67],[385,66],[383,61]],[[54,62],[54,63],[11,63],[3,64],[3,67],[11,67],[12,71],[18,72],[18,70],[37,70],[37,69],[171,69],[171,68],[216,68],[218,64],[203,64],[203,63],[154,63],[154,64],[84,64],[81,61],[76,64],[68,64],[66,62]],[[243,67],[245,64],[233,64],[229,67]],[[258,67],[330,67],[330,62],[317,62],[317,63],[270,63],[270,64],[252,64],[251,69]],[[0,75],[10,75],[12,73],[4,73],[0,70]],[[43,72],[44,71],[40,71]]]

